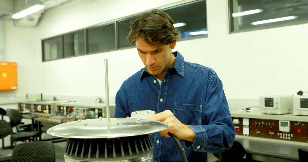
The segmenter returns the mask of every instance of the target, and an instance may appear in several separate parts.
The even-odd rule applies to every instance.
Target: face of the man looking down
[[[161,80],[167,68],[173,66],[175,57],[172,55],[172,49],[175,44],[176,42],[168,45],[150,46],[141,38],[136,41],[138,54],[151,75]]]

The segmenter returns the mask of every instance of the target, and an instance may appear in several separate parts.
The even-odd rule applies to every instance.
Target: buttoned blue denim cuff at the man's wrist
[[[201,125],[188,125],[195,132],[195,140],[189,142],[184,140],[185,147],[190,149],[193,147],[193,150],[196,152],[205,152],[206,144],[208,141],[208,136],[206,130]]]

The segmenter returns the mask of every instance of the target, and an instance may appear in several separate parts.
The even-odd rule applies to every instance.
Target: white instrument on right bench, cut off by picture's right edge
[[[294,96],[293,115],[308,116],[308,96],[301,96],[301,95]]]

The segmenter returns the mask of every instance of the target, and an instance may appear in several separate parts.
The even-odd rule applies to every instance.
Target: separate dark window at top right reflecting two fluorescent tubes
[[[229,0],[230,31],[308,22],[308,0]]]

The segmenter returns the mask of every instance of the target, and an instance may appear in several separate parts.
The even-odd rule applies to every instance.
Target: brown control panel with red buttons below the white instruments
[[[308,123],[232,117],[237,135],[308,142]]]

